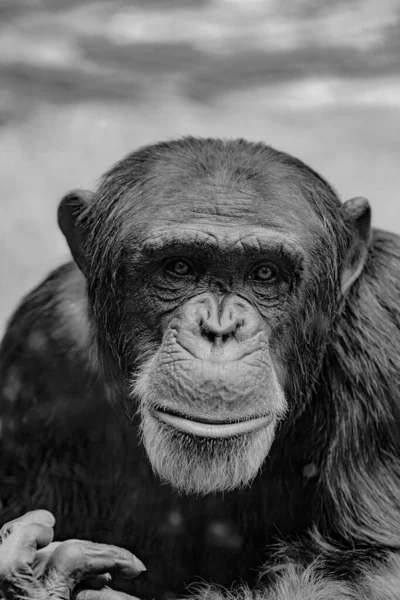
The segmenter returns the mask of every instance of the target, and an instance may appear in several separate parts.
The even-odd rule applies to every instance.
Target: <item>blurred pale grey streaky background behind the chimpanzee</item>
[[[0,0],[0,329],[60,197],[194,134],[295,154],[400,233],[400,0]]]

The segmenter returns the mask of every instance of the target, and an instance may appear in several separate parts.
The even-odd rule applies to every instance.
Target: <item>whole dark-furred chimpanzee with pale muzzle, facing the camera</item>
[[[58,221],[74,262],[1,346],[4,596],[398,599],[400,238],[368,202],[188,137]]]

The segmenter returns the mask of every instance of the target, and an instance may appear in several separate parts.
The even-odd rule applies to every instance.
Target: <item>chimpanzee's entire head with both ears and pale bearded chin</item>
[[[187,138],[69,194],[59,223],[154,470],[187,492],[248,484],[318,379],[368,203],[263,144]]]

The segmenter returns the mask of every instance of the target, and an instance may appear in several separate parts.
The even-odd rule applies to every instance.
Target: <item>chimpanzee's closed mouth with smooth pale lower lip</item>
[[[243,420],[211,420],[193,417],[165,408],[151,408],[152,416],[184,433],[205,438],[227,438],[244,435],[270,425],[273,418],[270,414],[255,416]]]

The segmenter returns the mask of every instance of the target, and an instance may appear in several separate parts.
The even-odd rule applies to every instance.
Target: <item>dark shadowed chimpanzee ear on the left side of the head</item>
[[[85,238],[86,231],[79,219],[92,202],[94,194],[86,190],[73,190],[61,200],[58,207],[58,225],[65,235],[71,254],[82,271],[86,271]]]

